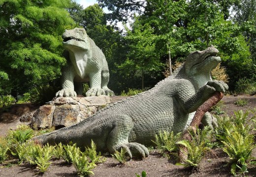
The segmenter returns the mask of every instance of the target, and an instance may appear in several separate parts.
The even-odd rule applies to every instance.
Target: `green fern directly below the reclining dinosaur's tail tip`
[[[52,162],[49,162],[53,155],[54,147],[47,144],[41,147],[38,144],[32,145],[29,148],[29,155],[27,159],[32,165],[36,165],[39,173],[44,173],[49,168]]]

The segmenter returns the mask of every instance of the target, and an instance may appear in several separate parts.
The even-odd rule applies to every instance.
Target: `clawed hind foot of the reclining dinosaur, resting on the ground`
[[[149,155],[149,150],[144,145],[139,143],[127,143],[121,145],[119,148],[123,148],[128,153],[128,156],[132,158],[132,155],[136,157],[145,158]]]

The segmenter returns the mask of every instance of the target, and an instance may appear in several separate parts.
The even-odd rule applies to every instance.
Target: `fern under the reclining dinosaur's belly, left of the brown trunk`
[[[166,153],[176,152],[178,150],[177,141],[180,139],[181,133],[174,134],[173,132],[159,132],[156,135],[156,140],[153,141],[157,148],[160,149],[161,153],[164,155]]]

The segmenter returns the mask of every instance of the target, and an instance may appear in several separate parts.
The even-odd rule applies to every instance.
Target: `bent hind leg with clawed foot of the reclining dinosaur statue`
[[[128,115],[119,115],[113,122],[113,129],[109,133],[107,139],[107,148],[110,153],[115,153],[116,150],[124,148],[128,153],[129,157],[133,155],[139,155],[146,157],[149,155],[148,148],[139,143],[129,143],[128,136],[133,127],[132,118]]]

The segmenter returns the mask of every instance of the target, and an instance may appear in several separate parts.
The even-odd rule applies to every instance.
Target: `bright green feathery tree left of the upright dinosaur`
[[[0,71],[4,92],[17,96],[61,75],[62,33],[72,28],[70,0],[0,0]]]

